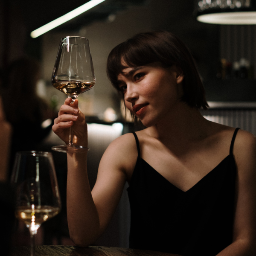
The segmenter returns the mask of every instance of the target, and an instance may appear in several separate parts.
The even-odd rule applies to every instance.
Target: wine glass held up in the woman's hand
[[[90,90],[95,84],[93,61],[89,41],[79,36],[61,38],[52,73],[52,85],[72,99]],[[70,127],[68,145],[53,146],[59,152],[87,152],[89,148],[73,144],[73,127]]]

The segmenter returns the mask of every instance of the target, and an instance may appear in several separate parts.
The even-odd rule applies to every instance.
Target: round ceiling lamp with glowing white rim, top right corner
[[[256,0],[199,0],[195,15],[204,23],[256,24]]]

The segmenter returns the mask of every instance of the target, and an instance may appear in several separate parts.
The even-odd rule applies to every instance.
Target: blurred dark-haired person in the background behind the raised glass
[[[9,176],[17,151],[40,150],[38,144],[49,134],[54,112],[37,95],[40,78],[38,61],[20,58],[13,61],[3,76],[1,96],[6,120],[12,125]],[[49,119],[49,120],[48,120]],[[42,125],[48,120],[48,126]],[[45,123],[44,123],[45,124]]]

